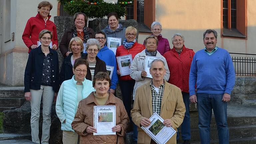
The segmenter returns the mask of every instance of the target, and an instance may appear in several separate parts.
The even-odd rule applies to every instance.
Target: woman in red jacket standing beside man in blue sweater
[[[191,138],[188,79],[190,65],[195,52],[192,49],[185,47],[184,37],[179,33],[174,34],[172,37],[172,44],[173,48],[166,52],[163,56],[165,57],[170,70],[170,79],[168,82],[179,87],[182,92],[186,112],[183,123],[181,124],[181,133],[184,144],[188,144]]]

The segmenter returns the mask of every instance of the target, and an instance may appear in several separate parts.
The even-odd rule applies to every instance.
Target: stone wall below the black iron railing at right
[[[240,99],[243,105],[256,106],[256,77],[236,77],[231,98]]]

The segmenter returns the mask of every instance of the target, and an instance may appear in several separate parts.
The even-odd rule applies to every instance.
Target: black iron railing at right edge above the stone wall
[[[237,76],[256,76],[256,54],[230,53]]]

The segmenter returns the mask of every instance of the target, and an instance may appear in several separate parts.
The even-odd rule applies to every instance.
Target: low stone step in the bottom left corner
[[[29,139],[29,140],[31,140],[31,133],[24,133],[24,134],[3,133],[3,134],[0,134],[0,140],[1,141],[3,141],[3,140],[17,140],[17,139]],[[0,141],[0,143],[1,143],[1,141]]]

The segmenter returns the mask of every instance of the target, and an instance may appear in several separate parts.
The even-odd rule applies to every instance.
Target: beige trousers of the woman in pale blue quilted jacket
[[[63,144],[77,144],[78,134],[71,131],[63,131],[62,142]]]

